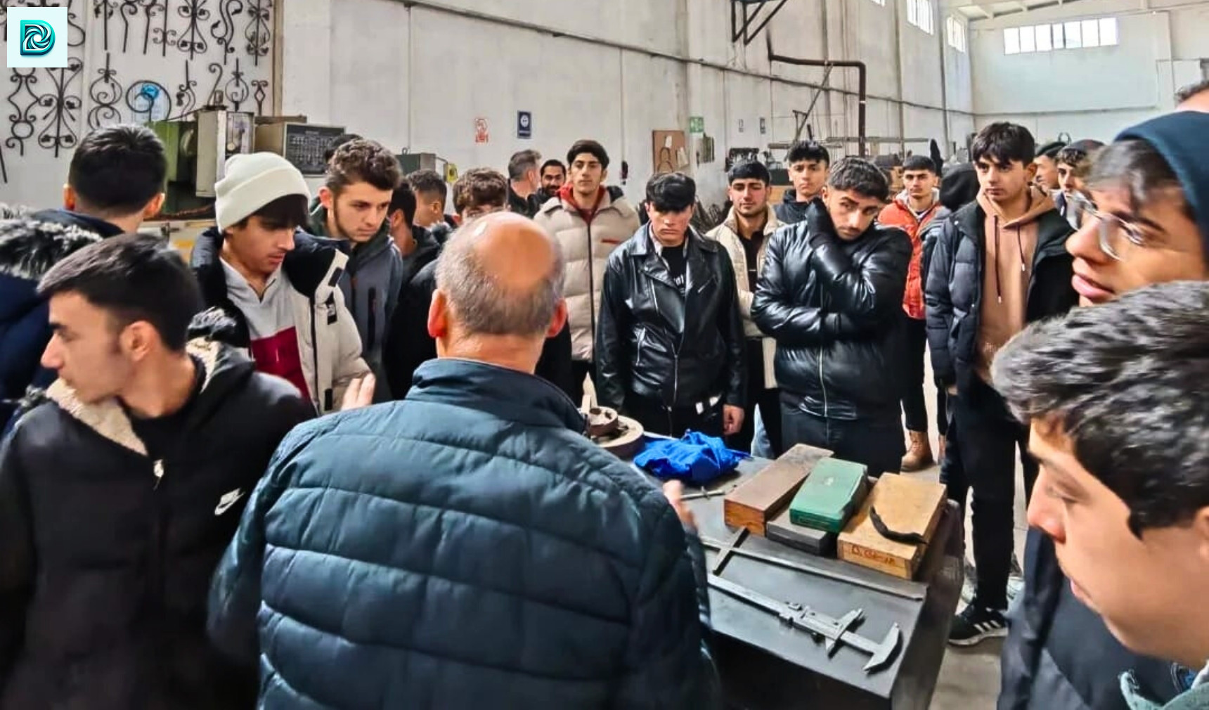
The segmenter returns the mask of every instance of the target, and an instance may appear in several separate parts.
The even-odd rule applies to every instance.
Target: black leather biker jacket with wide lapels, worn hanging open
[[[716,396],[744,406],[747,363],[730,256],[690,229],[686,262],[682,296],[649,226],[609,256],[596,327],[596,392],[604,406],[624,410],[631,393],[673,406]]]

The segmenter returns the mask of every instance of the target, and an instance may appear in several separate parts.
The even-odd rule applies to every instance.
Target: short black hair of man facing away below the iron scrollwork
[[[127,215],[163,190],[168,157],[144,126],[106,126],[83,137],[68,168],[68,184],[85,210]]]

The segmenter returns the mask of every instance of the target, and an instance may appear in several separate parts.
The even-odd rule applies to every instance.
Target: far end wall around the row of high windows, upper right
[[[978,126],[1014,121],[1039,140],[1058,133],[1110,140],[1120,129],[1173,106],[1180,86],[1199,80],[1209,58],[1209,2],[1151,0],[1074,2],[978,21],[970,37]],[[1117,17],[1113,47],[1003,53],[1003,28]]]

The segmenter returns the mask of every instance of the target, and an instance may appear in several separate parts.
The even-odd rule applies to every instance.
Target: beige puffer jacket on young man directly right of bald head
[[[567,261],[562,295],[571,322],[571,357],[591,360],[604,265],[613,249],[638,231],[638,213],[625,197],[614,200],[606,190],[591,225],[560,197],[548,200],[533,219],[562,244]]]

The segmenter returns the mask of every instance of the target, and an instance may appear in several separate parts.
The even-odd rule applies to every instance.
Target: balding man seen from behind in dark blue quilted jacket
[[[592,445],[532,374],[562,283],[533,221],[467,225],[436,267],[439,357],[406,399],[282,444],[210,594],[212,637],[259,660],[261,706],[717,704],[679,489]]]

